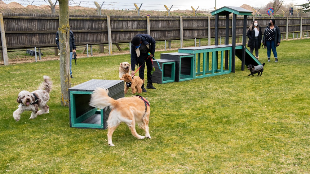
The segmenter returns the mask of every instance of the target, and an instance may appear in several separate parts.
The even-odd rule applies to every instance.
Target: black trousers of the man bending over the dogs
[[[145,62],[145,63],[144,63]],[[148,53],[140,53],[138,57],[138,66],[139,69],[139,77],[143,80],[144,79],[144,69],[146,65],[146,75],[148,78],[148,83],[152,83],[152,74],[151,71],[153,69],[152,58],[148,58]]]

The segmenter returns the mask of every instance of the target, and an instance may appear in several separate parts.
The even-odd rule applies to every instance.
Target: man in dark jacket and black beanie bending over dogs
[[[148,53],[151,53],[148,55]],[[144,80],[144,68],[146,64],[148,84],[146,88],[156,89],[152,84],[153,56],[155,53],[155,39],[148,34],[138,34],[131,40],[131,76],[135,75],[135,65],[139,65],[139,77]],[[145,63],[144,63],[145,62]],[[142,92],[146,92],[144,84]]]

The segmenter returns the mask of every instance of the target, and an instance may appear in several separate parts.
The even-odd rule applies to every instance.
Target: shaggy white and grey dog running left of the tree
[[[17,102],[20,103],[18,109],[13,112],[16,121],[20,120],[20,114],[24,111],[32,111],[29,119],[35,119],[37,115],[48,113],[50,107],[46,104],[50,99],[50,91],[52,89],[52,81],[48,76],[43,76],[44,81],[36,91],[20,91]],[[38,111],[38,109],[40,110]]]

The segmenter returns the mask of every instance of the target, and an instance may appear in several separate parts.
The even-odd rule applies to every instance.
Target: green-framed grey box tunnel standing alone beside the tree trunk
[[[95,80],[69,88],[70,127],[107,129],[110,108],[98,110],[89,106],[91,93],[97,88],[109,90],[113,99],[125,97],[123,80]]]

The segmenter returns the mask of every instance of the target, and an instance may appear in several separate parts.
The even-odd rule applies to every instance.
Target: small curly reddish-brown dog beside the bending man
[[[125,85],[125,94],[127,93],[129,87],[131,87],[132,94],[136,93],[136,90],[138,93],[142,92],[142,84],[144,81],[139,76],[134,76],[133,78],[129,74],[124,74],[121,78],[121,80],[124,80],[126,82]]]

